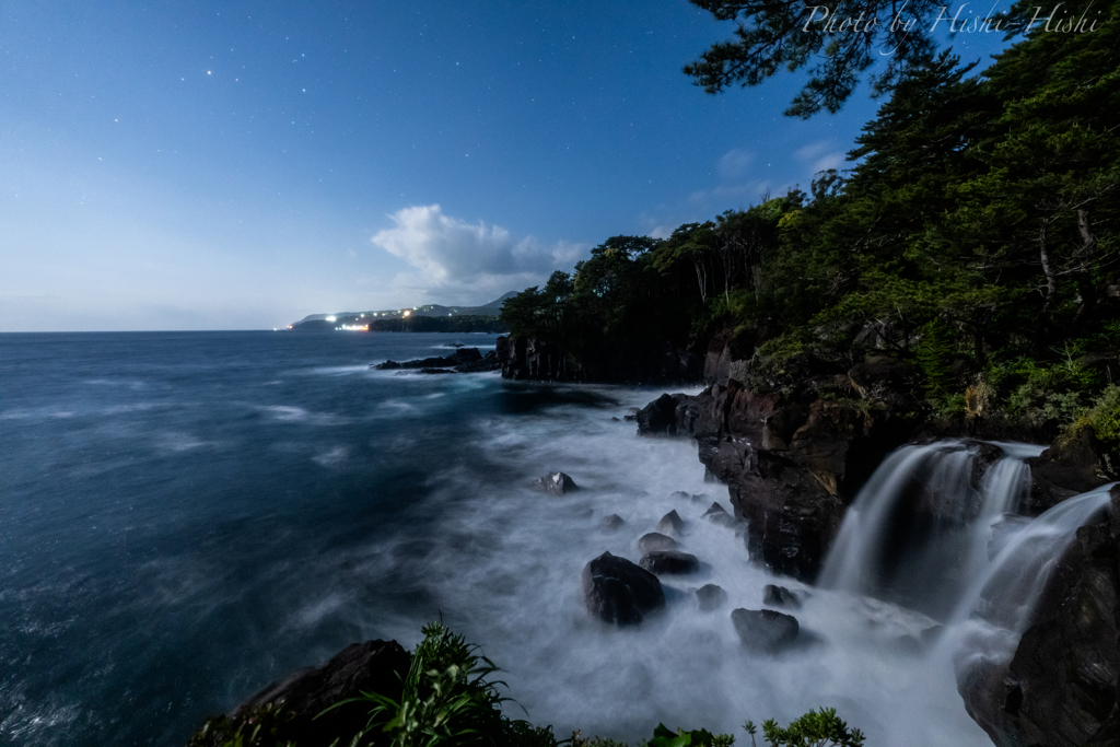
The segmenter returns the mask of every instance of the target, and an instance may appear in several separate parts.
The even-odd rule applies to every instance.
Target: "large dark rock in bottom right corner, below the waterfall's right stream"
[[[969,715],[1000,747],[1120,744],[1120,487],[1077,530],[1010,662],[958,672]]]

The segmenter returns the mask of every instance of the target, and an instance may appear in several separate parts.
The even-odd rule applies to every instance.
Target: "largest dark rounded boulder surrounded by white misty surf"
[[[656,576],[609,552],[584,567],[581,586],[588,611],[614,625],[637,625],[665,606]]]

